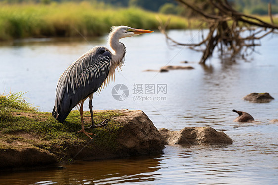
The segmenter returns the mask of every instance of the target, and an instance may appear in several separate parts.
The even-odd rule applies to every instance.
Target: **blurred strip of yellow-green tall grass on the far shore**
[[[157,29],[159,16],[138,8],[113,8],[101,3],[0,4],[0,40],[26,37],[99,36],[113,25]],[[169,28],[186,28],[186,19],[171,16]]]

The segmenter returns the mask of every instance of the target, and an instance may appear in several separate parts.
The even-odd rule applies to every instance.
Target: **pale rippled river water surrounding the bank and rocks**
[[[198,30],[170,31],[180,42],[198,42]],[[29,39],[0,45],[0,92],[27,92],[39,110],[51,112],[62,72],[93,46],[106,46],[107,36],[83,39]],[[248,61],[221,62],[218,54],[198,64],[201,53],[172,48],[158,31],[122,39],[125,66],[116,80],[93,98],[93,109],[143,110],[159,128],[211,126],[234,143],[226,146],[166,146],[161,155],[100,161],[77,161],[62,170],[5,173],[0,184],[278,184],[278,35],[261,40]],[[181,61],[188,61],[182,64]],[[193,70],[143,72],[165,65]],[[124,84],[129,94],[118,101],[111,94]],[[250,103],[249,93],[270,93],[270,103]],[[117,92],[122,94],[123,92]],[[88,106],[85,109],[88,110]],[[233,122],[232,109],[250,113],[254,123]]]

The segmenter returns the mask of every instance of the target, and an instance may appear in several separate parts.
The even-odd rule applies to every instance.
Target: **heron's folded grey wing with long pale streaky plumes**
[[[57,84],[54,118],[64,122],[82,99],[101,87],[109,73],[111,59],[107,48],[94,47],[66,69]]]

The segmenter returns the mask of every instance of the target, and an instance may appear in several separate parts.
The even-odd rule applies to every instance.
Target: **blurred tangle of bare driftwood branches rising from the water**
[[[203,39],[199,43],[175,41],[166,32],[170,19],[165,24],[161,21],[159,30],[165,34],[168,41],[172,42],[172,46],[189,46],[191,49],[202,51],[203,55],[199,62],[201,64],[205,64],[215,48],[218,48],[222,58],[241,56],[244,59],[248,55],[248,49],[255,51],[255,46],[260,46],[258,41],[261,38],[278,29],[278,25],[273,23],[271,4],[269,4],[271,23],[268,23],[255,16],[236,11],[227,0],[202,0],[202,3],[206,3],[206,7],[210,7],[210,11],[198,8],[200,0],[191,0],[191,3],[188,0],[176,1],[202,17],[202,25],[205,24],[205,27],[209,29],[208,35],[202,36]],[[194,5],[192,1],[195,2]]]

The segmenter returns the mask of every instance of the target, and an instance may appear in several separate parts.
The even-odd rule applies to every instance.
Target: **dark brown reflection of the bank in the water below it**
[[[65,169],[6,174],[0,184],[9,185],[78,185],[151,182],[160,169],[160,161],[148,156],[100,161],[75,162]],[[30,175],[32,174],[32,175]]]

